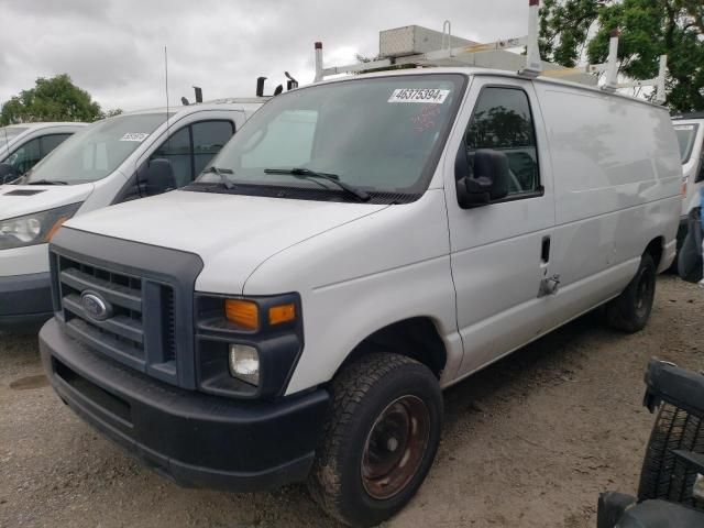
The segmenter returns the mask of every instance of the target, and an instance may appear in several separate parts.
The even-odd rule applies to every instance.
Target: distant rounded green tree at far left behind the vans
[[[40,77],[34,88],[22,90],[2,106],[0,124],[37,121],[91,122],[122,110],[103,112],[86,90],[78,88],[66,74],[51,79]]]

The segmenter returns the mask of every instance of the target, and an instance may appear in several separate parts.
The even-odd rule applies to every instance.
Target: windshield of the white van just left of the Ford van
[[[99,121],[74,134],[29,174],[23,184],[85,184],[111,174],[166,121],[166,113],[136,113]]]

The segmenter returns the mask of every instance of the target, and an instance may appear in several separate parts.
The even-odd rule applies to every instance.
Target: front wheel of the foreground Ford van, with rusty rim
[[[308,488],[330,515],[375,526],[410,501],[440,441],[442,395],[430,370],[398,354],[375,353],[332,382]]]

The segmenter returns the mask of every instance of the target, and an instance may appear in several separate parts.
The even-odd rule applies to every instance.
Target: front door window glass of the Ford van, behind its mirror
[[[538,150],[530,103],[516,88],[485,88],[474,108],[465,136],[472,158],[479,148],[492,148],[508,157],[509,195],[538,190]]]

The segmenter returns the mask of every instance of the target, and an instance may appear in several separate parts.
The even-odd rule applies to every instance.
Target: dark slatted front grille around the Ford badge
[[[173,287],[56,257],[58,308],[67,333],[99,353],[143,372],[156,369],[158,377],[177,383]],[[81,302],[86,293],[109,304],[109,317],[99,320],[86,311]]]

